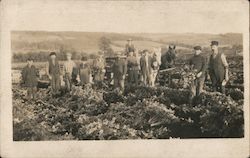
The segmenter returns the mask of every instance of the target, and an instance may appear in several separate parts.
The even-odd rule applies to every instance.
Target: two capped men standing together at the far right
[[[229,80],[228,62],[224,53],[218,50],[218,41],[211,42],[212,54],[209,61],[202,55],[200,46],[194,47],[194,56],[190,59],[190,68],[196,73],[191,84],[192,96],[197,96],[203,91],[206,72],[210,76],[213,91],[225,94],[225,86]]]

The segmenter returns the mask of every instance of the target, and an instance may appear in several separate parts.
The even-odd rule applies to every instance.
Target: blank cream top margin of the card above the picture
[[[11,30],[119,33],[242,33],[248,2],[13,1],[4,17]]]

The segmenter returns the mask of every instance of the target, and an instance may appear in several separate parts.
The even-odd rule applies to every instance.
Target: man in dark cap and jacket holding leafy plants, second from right
[[[205,81],[205,71],[206,71],[206,58],[201,55],[200,46],[194,47],[194,56],[190,59],[190,69],[195,72],[195,80],[192,82],[191,88],[191,98],[200,95],[203,90],[203,85]]]

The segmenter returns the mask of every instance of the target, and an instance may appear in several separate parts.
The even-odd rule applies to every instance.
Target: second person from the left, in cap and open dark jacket
[[[56,95],[59,94],[61,89],[61,78],[60,78],[60,65],[58,60],[56,59],[56,53],[50,53],[49,63],[47,64],[47,75],[51,80],[51,88],[52,94]]]

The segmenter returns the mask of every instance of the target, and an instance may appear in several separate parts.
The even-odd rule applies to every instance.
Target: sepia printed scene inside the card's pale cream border
[[[13,31],[13,140],[244,137],[242,38]]]

